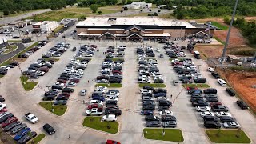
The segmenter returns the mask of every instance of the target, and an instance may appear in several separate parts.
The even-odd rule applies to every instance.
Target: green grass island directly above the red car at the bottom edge
[[[101,117],[86,117],[82,126],[90,127],[96,130],[102,130],[110,134],[118,133],[118,122],[101,122]],[[110,129],[107,127],[110,126]]]

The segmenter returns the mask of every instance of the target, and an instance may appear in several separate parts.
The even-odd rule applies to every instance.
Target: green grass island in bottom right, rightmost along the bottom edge
[[[218,130],[206,130],[206,134],[211,142],[214,143],[250,143],[244,131],[241,130],[240,138],[236,137],[238,130],[221,130],[219,136]]]

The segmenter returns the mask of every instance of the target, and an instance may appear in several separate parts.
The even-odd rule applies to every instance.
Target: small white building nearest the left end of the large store
[[[38,32],[50,32],[59,26],[58,22],[55,21],[43,21],[34,23],[32,25],[33,31]]]

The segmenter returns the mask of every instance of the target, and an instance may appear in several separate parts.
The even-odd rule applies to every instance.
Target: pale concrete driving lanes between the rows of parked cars
[[[26,62],[22,62],[20,67],[22,70],[26,70],[31,63],[36,62],[38,58],[42,57],[51,47],[55,46],[58,41],[62,41],[61,36],[49,42],[43,49],[38,50],[36,53],[27,58]],[[71,38],[66,38],[66,42],[70,43],[70,48],[80,45],[88,44],[87,41],[78,41]],[[20,70],[18,67],[10,70],[4,78],[1,78],[0,94],[6,98],[6,104],[8,110],[12,111],[18,119],[26,121],[24,114],[31,112],[39,118],[37,124],[28,124],[28,126],[38,132],[38,134],[44,132],[42,130],[43,124],[50,123],[54,126],[56,134],[47,136],[43,143],[101,143],[106,142],[106,139],[115,139],[122,143],[167,143],[167,142],[155,142],[146,140],[142,136],[142,129],[145,127],[144,117],[140,115],[142,110],[142,96],[138,94],[140,88],[138,87],[138,56],[135,52],[138,45],[142,45],[137,42],[113,42],[103,41],[94,42],[91,41],[90,45],[94,44],[98,46],[98,52],[95,52],[92,60],[88,63],[87,68],[84,70],[84,76],[80,79],[77,86],[74,87],[74,93],[71,94],[70,100],[67,102],[68,109],[66,114],[62,117],[58,117],[54,114],[50,114],[42,107],[38,106],[38,102],[42,101],[44,90],[47,90],[46,86],[53,85],[56,82],[59,74],[65,69],[65,66],[70,62],[70,58],[73,57],[76,52],[67,50],[66,53],[59,57],[58,62],[54,63],[54,66],[43,77],[38,78],[38,86],[34,90],[29,92],[23,90],[22,84],[19,80]],[[180,45],[185,45],[186,42],[178,42]],[[119,98],[118,106],[122,109],[122,116],[118,117],[120,129],[118,134],[110,135],[102,132],[95,132],[88,128],[82,127],[82,120],[86,116],[86,106],[83,104],[83,100],[89,101],[89,98],[81,97],[79,92],[82,89],[87,90],[87,94],[91,94],[94,91],[94,85],[96,84],[95,78],[98,76],[99,70],[101,70],[103,59],[106,55],[103,52],[106,51],[108,46],[126,46],[126,54],[124,56],[125,62],[122,65],[123,68],[123,80],[122,88],[119,88],[122,97]],[[164,83],[166,84],[166,98],[169,98],[173,103],[170,108],[174,116],[177,118],[177,128],[182,130],[184,143],[210,143],[206,137],[205,128],[203,126],[203,120],[199,113],[195,111],[194,106],[191,105],[190,98],[187,91],[182,88],[182,83],[179,82],[179,86],[173,85],[173,80],[178,79],[178,75],[175,74],[172,66],[170,65],[169,58],[164,54],[162,48],[163,44],[155,42],[148,42],[147,46],[152,46],[154,49],[159,48],[160,53],[156,54],[158,62],[158,69],[162,74]],[[251,140],[255,141],[256,136],[254,130],[256,130],[256,120],[248,110],[241,110],[235,103],[237,98],[230,97],[225,92],[225,88],[219,86],[216,79],[207,71],[206,62],[202,59],[195,59],[193,54],[184,50],[187,58],[192,58],[195,65],[200,66],[200,73],[207,79],[207,83],[210,87],[214,87],[218,90],[219,101],[225,106],[228,106],[230,113],[238,120],[242,126],[242,130],[248,134]],[[164,58],[159,58],[159,54],[164,54]],[[88,82],[89,81],[89,82]],[[170,98],[170,95],[173,95]],[[71,138],[68,135],[71,134]],[[171,142],[168,142],[171,143]],[[175,142],[174,142],[175,143]]]

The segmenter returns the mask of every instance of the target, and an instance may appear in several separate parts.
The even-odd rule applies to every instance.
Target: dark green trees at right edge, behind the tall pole
[[[230,18],[224,18],[224,22],[230,25]],[[236,18],[233,26],[241,30],[242,35],[248,39],[251,45],[256,44],[256,22],[246,22],[245,18]]]

